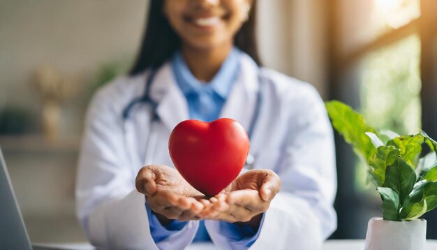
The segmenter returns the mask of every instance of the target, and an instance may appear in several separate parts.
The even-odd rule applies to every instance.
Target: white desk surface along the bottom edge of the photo
[[[57,249],[71,250],[94,250],[90,244],[74,243],[74,244],[44,244],[45,246],[56,247]],[[191,244],[187,250],[217,250],[212,243],[196,243]],[[321,250],[360,250],[364,249],[364,240],[328,240],[323,244]],[[427,250],[436,250],[437,240],[427,241]]]

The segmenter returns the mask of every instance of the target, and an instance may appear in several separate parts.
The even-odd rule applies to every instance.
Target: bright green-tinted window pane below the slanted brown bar
[[[415,34],[364,57],[360,110],[377,129],[399,134],[421,128],[420,38]]]

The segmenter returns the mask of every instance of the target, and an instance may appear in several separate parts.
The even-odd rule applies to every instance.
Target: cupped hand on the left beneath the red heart
[[[168,166],[141,168],[135,186],[145,194],[147,204],[164,226],[173,219],[200,219],[198,214],[209,205],[207,199],[202,199],[202,193],[190,186],[177,170]]]

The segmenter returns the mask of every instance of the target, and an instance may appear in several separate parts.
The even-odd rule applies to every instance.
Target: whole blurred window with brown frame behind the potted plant
[[[437,1],[334,0],[330,6],[331,98],[352,105],[369,124],[397,133],[437,135]],[[366,168],[336,140],[337,238],[363,238],[381,216]],[[437,212],[428,216],[437,219]],[[353,225],[351,225],[353,223]],[[429,226],[428,232],[437,228]],[[429,238],[436,235],[427,235]]]

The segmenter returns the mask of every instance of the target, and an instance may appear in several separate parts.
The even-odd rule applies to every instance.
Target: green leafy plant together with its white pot
[[[424,131],[377,132],[339,101],[326,108],[336,131],[366,162],[383,201],[383,218],[369,221],[365,249],[425,249],[427,221],[419,218],[437,206],[437,142]]]

